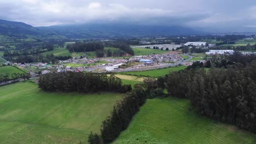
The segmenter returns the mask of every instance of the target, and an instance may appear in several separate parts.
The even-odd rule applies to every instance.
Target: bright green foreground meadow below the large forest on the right
[[[189,100],[148,99],[113,143],[256,143],[256,135],[201,117],[188,108]]]

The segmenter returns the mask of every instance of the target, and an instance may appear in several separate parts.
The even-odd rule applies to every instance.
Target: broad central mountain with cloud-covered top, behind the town
[[[200,31],[183,26],[131,25],[125,23],[90,23],[80,25],[57,25],[38,27],[44,31],[54,31],[67,38],[117,38],[159,35],[201,34]]]

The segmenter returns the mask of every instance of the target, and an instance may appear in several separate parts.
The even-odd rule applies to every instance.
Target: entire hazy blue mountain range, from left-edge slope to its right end
[[[201,34],[183,26],[143,26],[125,23],[88,23],[33,27],[23,22],[0,20],[0,34],[17,38],[120,38],[160,35]]]

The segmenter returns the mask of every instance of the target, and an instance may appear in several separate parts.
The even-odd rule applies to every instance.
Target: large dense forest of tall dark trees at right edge
[[[227,69],[183,70],[166,77],[171,97],[189,98],[202,116],[256,133],[256,61]]]

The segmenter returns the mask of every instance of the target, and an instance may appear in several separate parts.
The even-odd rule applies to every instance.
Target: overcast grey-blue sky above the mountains
[[[0,0],[0,19],[32,26],[129,22],[256,29],[255,0]]]

